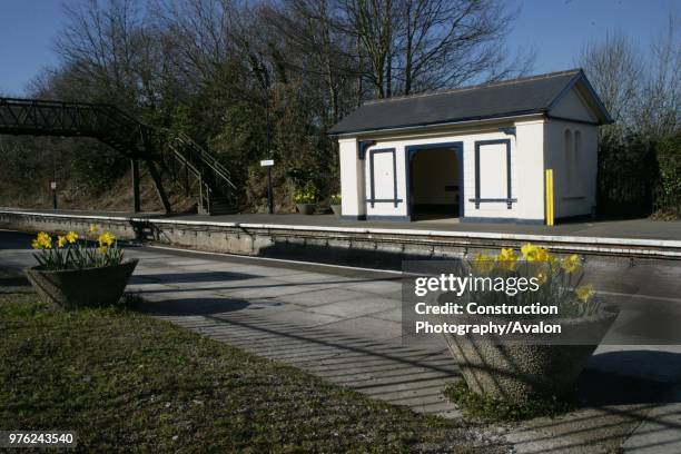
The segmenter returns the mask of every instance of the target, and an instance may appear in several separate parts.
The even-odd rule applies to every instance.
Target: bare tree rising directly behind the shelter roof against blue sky
[[[502,45],[517,11],[499,0],[343,0],[339,7],[378,98],[519,76],[534,59],[506,57]]]

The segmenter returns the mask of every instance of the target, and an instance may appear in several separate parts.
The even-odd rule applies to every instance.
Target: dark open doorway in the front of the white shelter
[[[409,215],[412,220],[461,217],[462,154],[460,144],[409,147]]]

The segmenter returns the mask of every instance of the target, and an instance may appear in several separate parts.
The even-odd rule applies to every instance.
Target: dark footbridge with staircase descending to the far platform
[[[136,213],[140,210],[140,162],[147,166],[167,213],[171,213],[171,206],[164,180],[171,181],[186,196],[196,197],[199,213],[235,211],[237,187],[220,161],[188,136],[146,125],[114,106],[0,98],[0,134],[91,137],[102,141],[131,161]]]

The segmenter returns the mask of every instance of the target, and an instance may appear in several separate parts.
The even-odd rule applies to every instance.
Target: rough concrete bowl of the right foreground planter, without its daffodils
[[[584,333],[590,345],[495,344],[446,335],[447,345],[475,393],[515,403],[560,396],[574,385],[618,314],[616,308],[605,308],[590,317],[553,320],[578,336]]]

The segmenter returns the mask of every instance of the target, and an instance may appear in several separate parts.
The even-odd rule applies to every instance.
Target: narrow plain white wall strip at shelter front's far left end
[[[362,216],[365,211],[364,161],[357,157],[357,139],[339,139],[340,209],[343,216]]]

